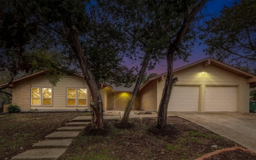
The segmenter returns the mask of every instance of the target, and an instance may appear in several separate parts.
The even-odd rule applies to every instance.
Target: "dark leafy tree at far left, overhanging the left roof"
[[[46,38],[46,32],[39,27],[39,19],[35,18],[38,7],[34,1],[7,1],[0,2],[0,70],[8,73],[4,77],[1,73],[2,82],[7,85],[0,87],[0,92],[11,99],[10,84],[14,78],[38,70],[47,70],[46,75],[50,82],[55,85],[58,81],[58,67],[64,68],[60,60],[62,55],[54,47],[53,38]],[[52,76],[58,72],[58,75]]]

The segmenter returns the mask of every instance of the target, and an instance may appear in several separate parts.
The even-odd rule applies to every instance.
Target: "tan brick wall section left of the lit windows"
[[[22,109],[30,108],[30,81],[20,82],[12,88],[12,104]]]

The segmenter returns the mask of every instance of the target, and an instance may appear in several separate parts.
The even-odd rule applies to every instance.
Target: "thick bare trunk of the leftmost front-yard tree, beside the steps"
[[[67,40],[70,46],[72,47],[72,50],[74,51],[74,54],[77,60],[79,61],[80,67],[84,74],[84,79],[88,83],[90,92],[92,94],[93,102],[90,103],[90,106],[93,111],[91,126],[92,128],[102,129],[103,128],[103,106],[102,106],[102,97],[100,94],[100,90],[98,88],[98,84],[94,79],[94,76],[82,52],[82,47],[80,45],[78,36],[76,34],[76,27],[75,26],[68,27],[65,24],[65,22],[64,22],[64,27],[67,33]]]

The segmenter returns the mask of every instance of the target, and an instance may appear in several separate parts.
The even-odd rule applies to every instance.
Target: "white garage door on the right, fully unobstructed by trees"
[[[204,111],[236,112],[236,86],[206,86]]]

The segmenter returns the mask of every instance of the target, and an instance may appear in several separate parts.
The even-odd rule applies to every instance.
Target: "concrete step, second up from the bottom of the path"
[[[43,140],[32,145],[33,148],[68,148],[73,139]]]

